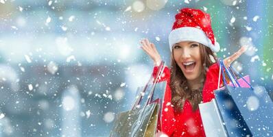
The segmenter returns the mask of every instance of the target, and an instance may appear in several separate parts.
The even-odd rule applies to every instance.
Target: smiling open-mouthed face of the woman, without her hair
[[[202,62],[198,42],[178,42],[173,46],[174,60],[189,81],[202,79]]]

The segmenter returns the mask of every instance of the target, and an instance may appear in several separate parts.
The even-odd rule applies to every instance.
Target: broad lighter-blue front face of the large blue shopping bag
[[[273,102],[265,88],[227,89],[253,136],[273,136]]]

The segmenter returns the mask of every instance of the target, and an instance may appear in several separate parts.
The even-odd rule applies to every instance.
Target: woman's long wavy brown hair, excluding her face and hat
[[[199,44],[200,55],[201,55],[201,64],[203,64],[203,69],[201,75],[206,79],[206,71],[213,64],[209,55],[212,55],[213,59],[216,60],[216,56],[209,49],[202,44]],[[174,60],[174,52],[171,52],[171,104],[174,105],[174,110],[176,112],[182,112],[185,100],[188,99],[191,103],[193,111],[198,109],[198,104],[202,101],[202,90],[204,86],[204,79],[200,82],[202,87],[196,90],[191,90],[187,83],[185,75],[182,73],[182,70]]]

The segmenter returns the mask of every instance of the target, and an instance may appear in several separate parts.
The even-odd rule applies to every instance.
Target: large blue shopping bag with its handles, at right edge
[[[223,79],[224,90],[215,90],[215,99],[223,119],[231,118],[233,120],[230,123],[235,123],[233,125],[236,125],[237,132],[234,132],[236,135],[273,136],[273,102],[268,92],[263,86],[253,88],[248,82],[246,83],[250,88],[241,87],[221,60],[220,64],[227,71],[228,77],[233,79],[231,80],[233,86],[228,86],[226,80]],[[230,69],[235,71],[232,67]],[[224,77],[224,73],[222,74]],[[237,74],[242,77],[239,73]],[[220,107],[221,105],[222,107]],[[226,121],[225,123],[228,130],[232,125]]]

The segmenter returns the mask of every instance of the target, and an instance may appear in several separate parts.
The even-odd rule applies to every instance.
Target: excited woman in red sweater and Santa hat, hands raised
[[[141,40],[141,44],[154,60],[155,75],[161,56],[149,40]],[[161,81],[167,80],[167,89],[160,130],[168,136],[205,136],[198,104],[214,98],[219,75],[214,54],[219,51],[219,44],[209,14],[191,8],[180,10],[169,34],[169,48],[171,67],[165,67],[161,77]],[[229,66],[244,51],[246,48],[242,47],[226,58],[224,64]]]

